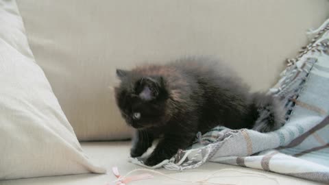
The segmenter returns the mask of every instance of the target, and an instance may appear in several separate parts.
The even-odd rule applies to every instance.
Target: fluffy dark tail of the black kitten
[[[254,93],[252,95],[252,114],[256,119],[253,130],[271,132],[278,130],[284,124],[284,108],[271,95]]]

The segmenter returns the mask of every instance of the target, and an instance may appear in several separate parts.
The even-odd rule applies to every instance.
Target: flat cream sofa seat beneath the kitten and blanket
[[[107,174],[82,174],[82,175],[64,175],[55,177],[38,177],[20,180],[7,180],[0,181],[1,185],[43,185],[43,184],[56,184],[56,185],[106,185],[108,182],[116,180],[116,177],[112,174],[112,167],[118,167],[121,175],[125,175],[131,170],[139,169],[141,167],[136,164],[128,162],[127,156],[130,150],[130,141],[120,142],[86,142],[82,143],[87,156],[93,162],[103,165],[108,170]],[[298,179],[295,177],[289,177],[287,175],[280,175],[276,173],[270,173],[266,171],[260,171],[256,169],[247,169],[243,167],[235,167],[227,164],[218,164],[208,162],[197,169],[191,169],[188,171],[178,172],[169,171],[166,169],[158,169],[162,173],[166,173],[171,177],[179,178],[180,180],[201,180],[202,178],[214,173],[215,171],[223,169],[217,173],[211,182],[217,182],[221,184],[277,184],[275,180],[268,179],[267,177],[274,178],[280,185],[282,184],[320,184],[316,182],[310,182],[307,180]],[[234,171],[230,171],[230,169]],[[247,173],[240,173],[247,172]],[[139,172],[138,172],[139,173]],[[253,173],[253,174],[250,174]],[[266,175],[265,176],[260,176]],[[184,182],[178,182],[170,180],[167,177],[161,175],[155,175],[154,179],[141,180],[131,182],[130,184],[186,184]]]

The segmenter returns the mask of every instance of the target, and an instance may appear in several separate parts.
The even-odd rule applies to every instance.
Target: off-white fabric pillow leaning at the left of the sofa
[[[84,155],[42,69],[15,1],[0,0],[0,180],[104,173]]]

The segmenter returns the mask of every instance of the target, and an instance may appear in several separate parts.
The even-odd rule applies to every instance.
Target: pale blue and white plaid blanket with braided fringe
[[[329,19],[269,93],[287,108],[287,123],[275,132],[215,127],[196,143],[152,167],[184,170],[204,162],[262,169],[329,184]],[[141,160],[131,162],[143,165]],[[144,165],[143,165],[144,166]]]

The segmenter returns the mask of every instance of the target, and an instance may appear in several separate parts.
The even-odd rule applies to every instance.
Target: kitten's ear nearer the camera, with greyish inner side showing
[[[146,101],[156,99],[163,88],[162,80],[162,77],[143,77],[139,82],[141,91],[138,96]]]

